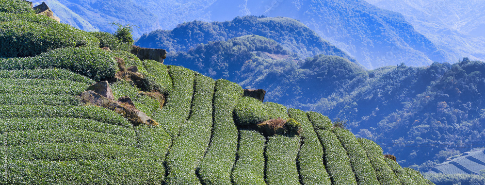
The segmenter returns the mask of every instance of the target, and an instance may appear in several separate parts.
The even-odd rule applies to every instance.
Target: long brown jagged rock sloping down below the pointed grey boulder
[[[129,97],[120,98],[123,100],[123,102],[114,101],[94,91],[89,90],[89,91],[82,92],[80,98],[85,105],[96,105],[100,107],[105,107],[118,114],[123,115],[123,117],[127,118],[134,126],[138,126],[141,124],[146,124],[151,126],[159,125],[157,121],[146,116],[144,112],[141,112],[138,109],[136,109]],[[131,105],[130,103],[127,103],[127,102],[130,102]]]

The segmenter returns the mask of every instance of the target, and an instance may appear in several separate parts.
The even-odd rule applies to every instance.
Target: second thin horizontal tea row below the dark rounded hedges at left
[[[84,83],[73,82],[69,80],[45,80],[45,79],[12,79],[12,78],[0,78],[1,85],[29,85],[29,86],[72,86],[72,87],[82,87],[86,86]]]

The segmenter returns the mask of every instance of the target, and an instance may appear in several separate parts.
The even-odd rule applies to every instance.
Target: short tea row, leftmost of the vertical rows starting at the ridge
[[[160,63],[159,65],[163,66]],[[189,118],[195,74],[192,70],[178,66],[171,66],[169,74],[174,82],[173,90],[167,96],[162,111],[154,113],[154,119],[173,139]]]

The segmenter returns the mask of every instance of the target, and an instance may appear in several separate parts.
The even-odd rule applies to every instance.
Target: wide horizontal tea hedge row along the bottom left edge
[[[79,161],[9,161],[7,184],[161,185],[163,163],[155,158]]]

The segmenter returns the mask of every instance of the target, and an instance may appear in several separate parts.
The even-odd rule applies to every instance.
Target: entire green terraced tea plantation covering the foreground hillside
[[[99,49],[116,38],[29,8],[0,0],[2,185],[432,184],[319,113],[243,97],[238,84],[140,61],[123,47]],[[115,57],[136,66],[144,83],[116,80],[122,67]],[[159,125],[133,126],[124,115],[84,105],[81,92],[107,79],[116,99],[129,96]],[[259,130],[276,118],[291,120],[287,131]]]

